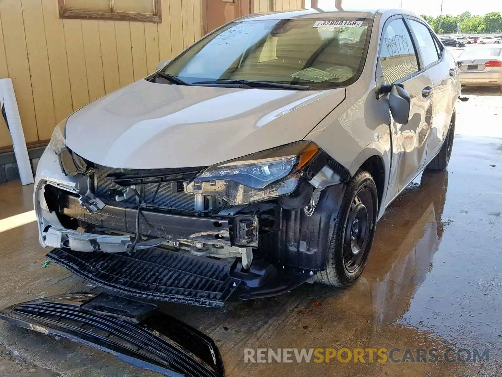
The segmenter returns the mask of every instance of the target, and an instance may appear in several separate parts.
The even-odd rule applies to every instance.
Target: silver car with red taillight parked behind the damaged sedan
[[[502,91],[502,47],[479,46],[457,58],[460,82],[465,86],[499,86]]]

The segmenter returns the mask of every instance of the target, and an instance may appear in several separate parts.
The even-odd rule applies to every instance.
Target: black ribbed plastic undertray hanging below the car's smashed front
[[[132,256],[54,249],[47,257],[97,286],[164,302],[222,307],[240,282],[229,276],[233,258],[201,258],[161,248]]]

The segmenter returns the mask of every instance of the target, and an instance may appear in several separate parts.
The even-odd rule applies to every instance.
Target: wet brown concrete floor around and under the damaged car
[[[489,88],[464,92],[471,100],[457,107],[448,171],[423,173],[391,205],[354,287],[306,284],[220,310],[163,310],[215,339],[228,376],[500,376],[502,96]],[[0,186],[0,222],[31,211],[31,195],[32,186],[19,182]],[[33,222],[0,231],[0,307],[91,288],[59,266],[42,268],[48,250],[37,237]],[[243,349],[257,347],[489,348],[490,361],[243,363]],[[157,375],[3,322],[0,349],[0,375]]]

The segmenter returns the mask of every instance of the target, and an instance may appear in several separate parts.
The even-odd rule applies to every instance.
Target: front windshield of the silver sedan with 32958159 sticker
[[[326,89],[357,80],[372,19],[233,22],[183,52],[163,71],[197,84],[269,81]]]

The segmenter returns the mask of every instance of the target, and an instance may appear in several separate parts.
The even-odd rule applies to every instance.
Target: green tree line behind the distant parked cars
[[[432,29],[439,34],[456,33],[460,23],[460,33],[498,33],[502,32],[502,15],[500,12],[489,12],[484,16],[472,16],[464,12],[458,16],[443,15],[432,17],[422,15]],[[441,24],[441,29],[439,26]]]

